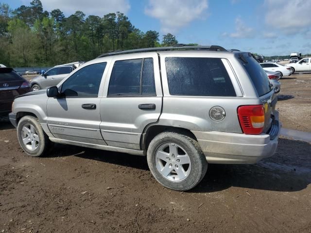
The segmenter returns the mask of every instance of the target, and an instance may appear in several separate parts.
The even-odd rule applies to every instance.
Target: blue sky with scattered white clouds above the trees
[[[14,10],[31,0],[0,0]],[[264,56],[311,53],[311,0],[41,0],[44,10],[103,17],[120,11],[143,32],[179,43],[220,45]]]

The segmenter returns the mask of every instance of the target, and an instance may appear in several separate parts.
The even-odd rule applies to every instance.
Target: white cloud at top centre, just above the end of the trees
[[[177,33],[207,8],[207,0],[149,0],[145,14],[160,20],[163,33]]]

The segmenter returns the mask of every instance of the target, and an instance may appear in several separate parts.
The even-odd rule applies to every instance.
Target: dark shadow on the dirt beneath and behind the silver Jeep
[[[276,154],[258,164],[210,164],[205,178],[190,192],[217,192],[231,186],[283,192],[302,190],[311,183],[310,151],[311,145],[307,142],[280,138]],[[67,145],[56,145],[48,157],[70,155],[142,170],[149,169],[146,157],[143,156]]]

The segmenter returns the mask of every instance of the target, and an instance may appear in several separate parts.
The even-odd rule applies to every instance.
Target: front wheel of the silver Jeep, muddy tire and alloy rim
[[[43,155],[51,142],[48,135],[44,133],[38,118],[34,116],[23,116],[18,121],[17,138],[25,153],[33,157]],[[25,140],[28,141],[25,143]]]

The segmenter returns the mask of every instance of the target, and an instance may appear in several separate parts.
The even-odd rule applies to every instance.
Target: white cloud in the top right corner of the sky
[[[286,34],[311,28],[311,0],[265,0],[265,22]]]

